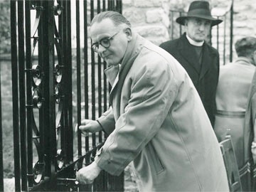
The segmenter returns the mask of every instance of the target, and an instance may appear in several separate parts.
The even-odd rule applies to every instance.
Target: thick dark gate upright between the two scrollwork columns
[[[52,178],[49,188],[54,191],[55,184],[55,156],[56,156],[56,132],[55,132],[55,98],[54,98],[54,11],[53,1],[43,1],[43,95],[45,102],[43,111],[45,112],[46,135],[46,174]]]

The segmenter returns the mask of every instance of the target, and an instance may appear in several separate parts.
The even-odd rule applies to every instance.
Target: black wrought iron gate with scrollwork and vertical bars
[[[121,12],[122,1],[11,1],[15,191],[123,191],[123,176],[104,172],[92,185],[75,181],[105,140],[74,130],[108,107],[106,64],[87,33],[105,10]]]

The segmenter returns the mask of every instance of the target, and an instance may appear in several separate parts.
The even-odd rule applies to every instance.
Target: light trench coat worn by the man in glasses
[[[136,35],[116,83],[117,72],[105,71],[112,109],[97,119],[109,134],[97,165],[119,175],[133,161],[139,191],[228,191],[217,138],[181,65]]]

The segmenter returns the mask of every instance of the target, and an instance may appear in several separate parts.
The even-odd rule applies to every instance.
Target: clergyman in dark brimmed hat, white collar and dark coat
[[[178,17],[176,22],[185,26],[186,33],[181,38],[161,43],[160,47],[171,53],[186,69],[213,125],[220,58],[218,50],[206,43],[206,37],[211,26],[222,20],[211,16],[208,1],[193,1],[187,15]]]

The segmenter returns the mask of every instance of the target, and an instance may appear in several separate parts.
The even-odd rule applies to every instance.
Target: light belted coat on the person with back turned
[[[245,109],[254,72],[255,65],[243,57],[220,67],[214,130],[219,142],[225,138],[225,135],[231,135],[239,169],[245,166],[243,161]]]

